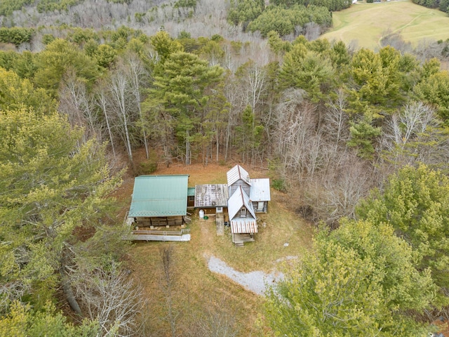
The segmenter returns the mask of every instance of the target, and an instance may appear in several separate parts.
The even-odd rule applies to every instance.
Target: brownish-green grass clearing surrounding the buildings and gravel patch
[[[140,157],[142,157],[140,155]],[[226,183],[226,172],[236,163],[162,165],[152,174],[189,174],[189,187],[205,183]],[[243,164],[251,178],[269,177],[267,170],[252,170]],[[121,201],[118,219],[126,216],[133,192],[133,174],[123,177],[123,185],[115,197]],[[129,251],[133,277],[143,286],[147,309],[142,336],[206,336],[211,326],[232,326],[236,336],[260,336],[266,328],[263,317],[263,296],[248,291],[232,279],[211,272],[208,261],[214,256],[236,272],[283,272],[291,266],[292,256],[301,256],[311,246],[313,228],[285,206],[288,195],[271,190],[272,201],[267,214],[260,216],[255,242],[235,247],[229,229],[217,236],[215,217],[200,219],[198,211],[189,225],[190,242],[138,242]],[[288,243],[288,245],[285,245]],[[170,293],[163,277],[161,251],[173,250]],[[288,262],[290,261],[290,262]],[[168,296],[170,295],[170,296]],[[168,315],[168,298],[172,300],[172,319]],[[175,318],[173,318],[175,317]],[[233,335],[230,335],[233,336]]]

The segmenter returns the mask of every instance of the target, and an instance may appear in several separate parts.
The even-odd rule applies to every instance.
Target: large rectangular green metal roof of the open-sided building
[[[128,216],[185,216],[188,180],[188,174],[136,177]]]

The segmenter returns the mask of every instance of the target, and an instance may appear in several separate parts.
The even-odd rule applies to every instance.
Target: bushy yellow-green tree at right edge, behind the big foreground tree
[[[430,268],[436,284],[448,289],[448,203],[447,176],[424,164],[406,166],[361,202],[357,216],[394,227],[419,254],[416,267]]]

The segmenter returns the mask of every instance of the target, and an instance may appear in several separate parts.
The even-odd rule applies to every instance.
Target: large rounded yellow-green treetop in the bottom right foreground
[[[436,287],[389,225],[346,221],[320,232],[314,251],[269,293],[276,336],[427,336],[406,315],[427,308]]]

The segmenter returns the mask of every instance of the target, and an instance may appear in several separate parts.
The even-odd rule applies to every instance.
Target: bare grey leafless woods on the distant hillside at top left
[[[2,27],[33,27],[34,37],[30,44],[20,46],[20,49],[41,51],[43,34],[55,34],[65,37],[64,31],[72,27],[83,27],[95,30],[119,29],[126,25],[134,29],[142,29],[147,35],[158,32],[165,27],[171,34],[177,35],[182,30],[188,30],[194,37],[203,35],[207,30],[209,36],[220,34],[223,37],[247,41],[248,37],[241,30],[229,26],[226,21],[228,4],[226,1],[213,0],[168,1],[168,0],[83,0],[67,6],[67,9],[49,9],[39,11],[39,1],[33,1],[29,6],[23,6],[21,11],[11,11],[0,14]],[[63,1],[48,1],[49,6],[62,6]],[[1,1],[0,6],[4,4]],[[14,2],[13,5],[16,3]],[[86,15],[89,13],[89,15]],[[205,29],[205,27],[208,27]]]

